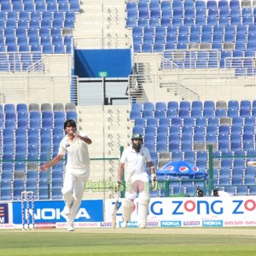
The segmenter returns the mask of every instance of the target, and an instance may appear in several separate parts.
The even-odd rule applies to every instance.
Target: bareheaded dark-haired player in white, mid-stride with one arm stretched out
[[[67,216],[67,230],[73,231],[73,221],[84,195],[84,182],[90,176],[90,157],[87,145],[91,143],[91,140],[87,135],[77,131],[73,119],[65,121],[64,130],[67,134],[61,140],[58,154],[40,169],[45,171],[55,166],[67,154],[66,172],[61,192],[66,203],[63,212]]]

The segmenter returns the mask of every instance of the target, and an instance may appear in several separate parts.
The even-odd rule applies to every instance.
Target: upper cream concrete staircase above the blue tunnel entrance
[[[79,49],[116,49],[131,45],[125,29],[125,1],[83,0],[73,31]]]

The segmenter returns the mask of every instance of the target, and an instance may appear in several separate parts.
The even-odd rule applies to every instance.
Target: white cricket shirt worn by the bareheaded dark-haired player
[[[80,136],[85,137],[83,133]],[[67,154],[67,167],[72,169],[87,169],[90,165],[88,146],[82,140],[74,137],[73,141],[66,135],[60,143],[58,154]]]

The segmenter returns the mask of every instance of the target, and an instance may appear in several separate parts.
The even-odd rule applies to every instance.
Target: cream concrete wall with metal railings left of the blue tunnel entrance
[[[18,55],[14,53],[13,56]],[[0,102],[71,102],[71,55],[42,55],[36,52],[27,55],[27,58],[33,58],[33,62],[23,62],[21,66],[16,65],[18,62],[12,63],[13,67],[21,68],[19,72],[16,67],[15,72],[0,72]],[[23,70],[25,63],[26,70]]]

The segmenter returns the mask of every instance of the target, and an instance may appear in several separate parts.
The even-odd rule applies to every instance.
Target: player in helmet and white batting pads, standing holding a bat
[[[154,164],[148,148],[143,146],[143,137],[136,133],[131,137],[131,146],[125,148],[119,164],[118,183],[122,183],[125,172],[125,199],[123,201],[123,223],[125,228],[131,220],[133,201],[138,195],[138,224],[139,228],[147,227],[148,204],[149,204],[149,177],[146,172],[146,164],[150,168],[152,189],[156,189],[156,175]]]

